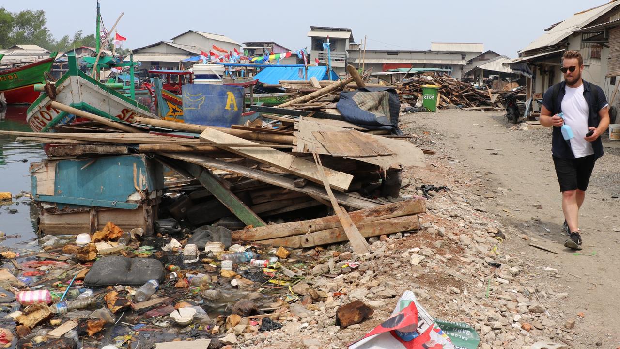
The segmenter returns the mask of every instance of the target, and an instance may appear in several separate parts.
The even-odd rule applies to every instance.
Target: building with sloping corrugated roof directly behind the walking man
[[[513,70],[528,77],[526,96],[541,97],[562,81],[562,54],[578,50],[583,56],[583,79],[601,86],[610,99],[619,83],[615,76],[620,75],[620,0],[577,12],[545,31],[510,62]]]

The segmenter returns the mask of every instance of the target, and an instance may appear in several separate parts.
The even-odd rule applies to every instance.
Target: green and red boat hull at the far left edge
[[[0,93],[4,93],[7,104],[31,104],[39,96],[34,85],[43,81],[43,75],[51,70],[56,52],[49,58],[18,66],[7,70],[0,70]]]

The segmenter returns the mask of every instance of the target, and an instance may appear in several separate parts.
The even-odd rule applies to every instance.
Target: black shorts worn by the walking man
[[[594,168],[596,159],[594,155],[583,156],[582,158],[560,159],[553,156],[553,163],[556,165],[557,181],[560,183],[560,191],[588,189],[590,175]]]

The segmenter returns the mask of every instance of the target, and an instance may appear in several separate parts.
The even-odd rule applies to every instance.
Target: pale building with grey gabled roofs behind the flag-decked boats
[[[187,30],[172,38],[172,42],[160,41],[133,50],[133,59],[141,62],[140,69],[179,69],[179,63],[185,58],[209,52],[213,45],[232,51],[241,50],[241,43],[224,35]],[[218,52],[216,52],[218,53]],[[219,53],[218,53],[219,54]]]

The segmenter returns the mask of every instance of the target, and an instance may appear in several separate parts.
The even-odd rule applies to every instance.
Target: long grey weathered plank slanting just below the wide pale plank
[[[187,161],[196,165],[204,166],[206,168],[215,168],[217,170],[229,171],[232,173],[240,174],[241,176],[257,179],[263,183],[273,184],[281,188],[292,189],[299,193],[308,194],[312,197],[320,197],[322,199],[329,199],[325,189],[319,188],[314,184],[307,184],[303,188],[297,188],[293,179],[279,176],[278,174],[265,173],[263,171],[247,168],[246,166],[237,165],[234,163],[228,163],[225,161],[215,160],[203,155],[185,154],[185,153],[160,153],[163,156],[174,158],[177,160]],[[353,196],[346,193],[334,193],[336,200],[344,205],[353,207],[355,209],[368,209],[379,205],[379,202],[365,199],[363,197]]]

